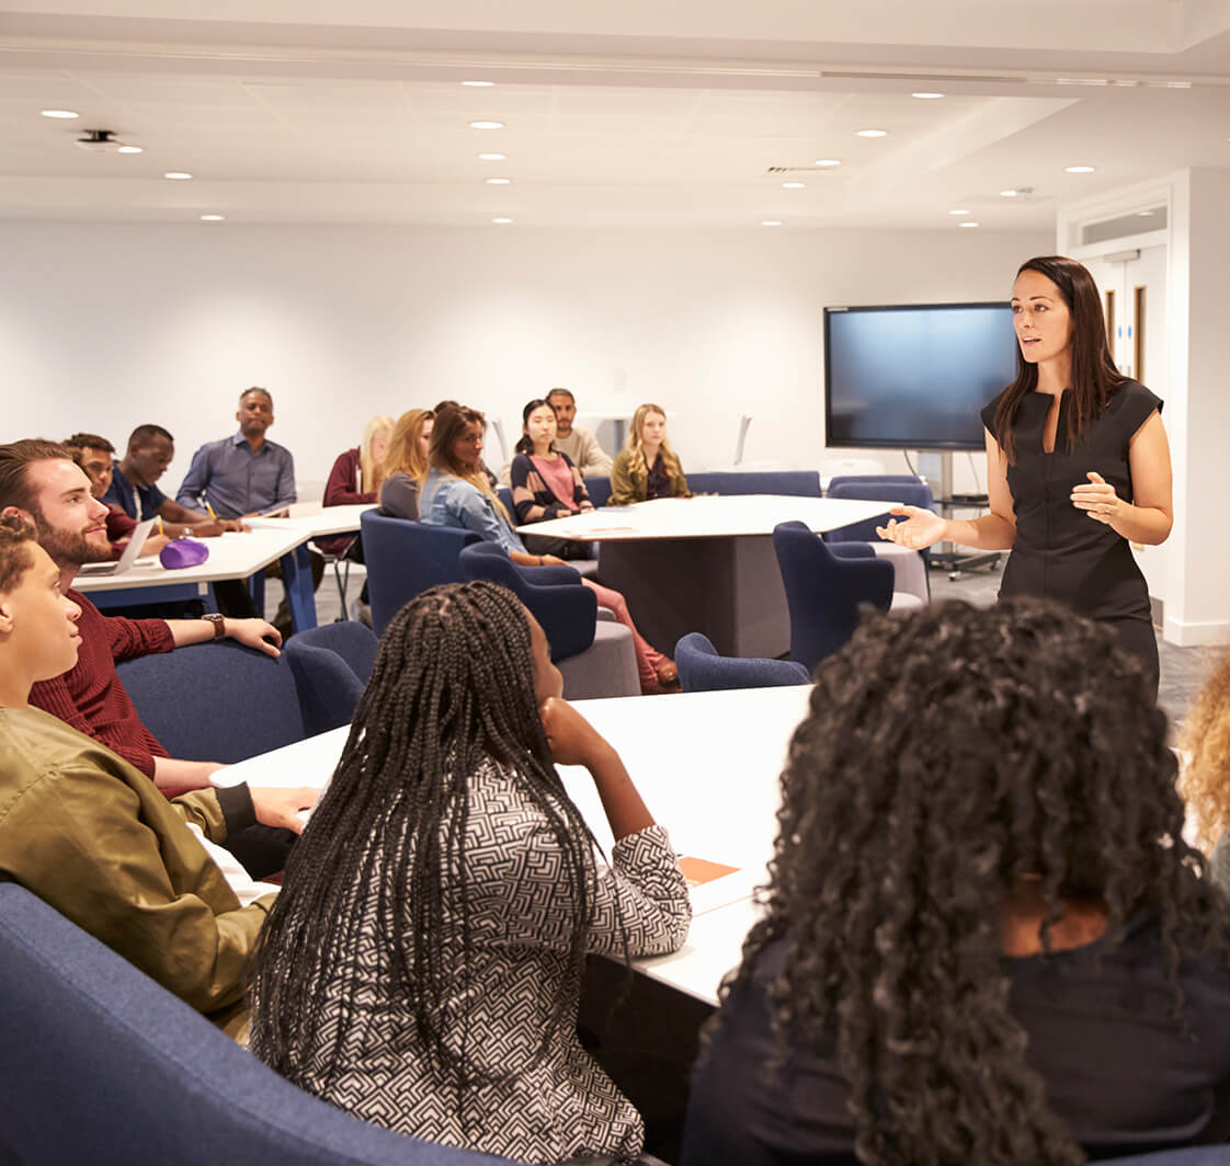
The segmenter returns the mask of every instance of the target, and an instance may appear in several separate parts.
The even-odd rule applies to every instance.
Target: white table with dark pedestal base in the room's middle
[[[787,494],[659,498],[519,526],[600,545],[598,577],[624,593],[641,633],[674,653],[704,632],[723,656],[790,648],[790,613],[772,549],[779,523],[817,534],[887,514],[897,503]]]

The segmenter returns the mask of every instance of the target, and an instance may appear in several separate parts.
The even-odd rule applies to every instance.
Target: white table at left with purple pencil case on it
[[[79,576],[73,585],[89,594],[100,608],[197,599],[208,595],[210,583],[246,579],[280,560],[292,621],[296,631],[304,631],[316,626],[316,600],[305,544],[319,536],[358,530],[359,517],[370,509],[370,506],[339,506],[299,518],[250,519],[251,530],[203,539],[209,558],[196,567],[169,571],[156,557],[139,558],[128,571]]]

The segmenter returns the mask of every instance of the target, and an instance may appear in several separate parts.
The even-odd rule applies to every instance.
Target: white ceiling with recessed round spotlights
[[[1230,166],[1230,0],[66,2],[0,0],[2,219],[1023,229]]]

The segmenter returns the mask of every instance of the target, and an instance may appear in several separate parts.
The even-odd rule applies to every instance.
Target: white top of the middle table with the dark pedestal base
[[[779,523],[801,522],[823,534],[887,514],[895,502],[855,498],[796,498],[788,494],[720,494],[657,498],[635,506],[604,507],[585,514],[518,526],[522,534],[620,542],[636,539],[715,539],[770,535]]]

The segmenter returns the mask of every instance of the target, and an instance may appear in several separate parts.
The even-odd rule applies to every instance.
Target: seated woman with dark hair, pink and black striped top
[[[544,523],[594,508],[581,474],[567,454],[555,448],[555,410],[542,400],[522,410],[522,438],[513,458],[513,507],[517,522]],[[525,535],[525,549],[561,558],[589,558],[588,542]]]

